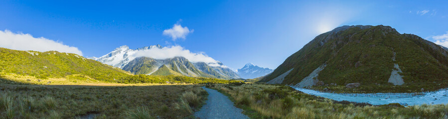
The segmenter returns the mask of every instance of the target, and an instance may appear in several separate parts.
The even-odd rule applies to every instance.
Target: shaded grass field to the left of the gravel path
[[[0,119],[184,119],[203,105],[207,95],[200,85],[1,83]]]

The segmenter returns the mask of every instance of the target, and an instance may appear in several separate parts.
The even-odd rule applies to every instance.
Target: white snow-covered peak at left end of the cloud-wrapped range
[[[162,46],[155,45],[132,50],[129,49],[128,46],[124,45],[115,49],[107,55],[97,58],[96,60],[115,67],[123,68],[126,64],[129,63],[129,61],[136,59],[136,57],[134,57],[134,54],[137,53],[137,51],[149,50],[153,48],[161,49]]]

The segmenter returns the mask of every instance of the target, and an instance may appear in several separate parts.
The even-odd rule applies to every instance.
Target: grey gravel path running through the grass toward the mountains
[[[242,109],[233,106],[233,102],[227,96],[216,90],[202,87],[208,93],[208,100],[201,110],[194,113],[199,119],[249,119],[241,114]]]

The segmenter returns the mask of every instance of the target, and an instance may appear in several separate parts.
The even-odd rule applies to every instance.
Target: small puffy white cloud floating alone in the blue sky
[[[188,27],[182,27],[180,24],[174,24],[174,26],[170,29],[163,30],[163,35],[169,36],[172,38],[173,41],[176,39],[185,39],[185,37],[189,33],[193,33],[194,29],[191,29],[191,31],[188,29]]]

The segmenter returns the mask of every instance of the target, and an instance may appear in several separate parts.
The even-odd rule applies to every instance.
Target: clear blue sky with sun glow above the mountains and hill
[[[237,69],[276,68],[320,33],[389,25],[448,46],[448,1],[157,0],[0,1],[0,30],[30,34],[101,57],[122,45],[181,46]],[[189,33],[173,40],[173,25]],[[3,38],[5,39],[5,38]],[[0,43],[1,45],[2,43]]]

